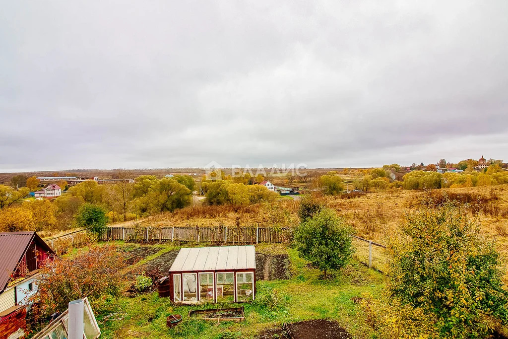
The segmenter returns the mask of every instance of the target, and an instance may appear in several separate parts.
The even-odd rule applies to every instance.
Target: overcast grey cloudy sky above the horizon
[[[3,1],[0,171],[508,160],[508,2]]]

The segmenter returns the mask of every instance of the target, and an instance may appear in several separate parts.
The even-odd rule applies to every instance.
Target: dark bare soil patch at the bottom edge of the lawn
[[[289,331],[287,330],[289,329]],[[260,339],[351,339],[352,336],[334,320],[307,320],[272,328],[260,333]]]

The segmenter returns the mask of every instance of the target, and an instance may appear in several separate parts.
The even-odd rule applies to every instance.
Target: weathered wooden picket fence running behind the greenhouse
[[[108,227],[101,240],[190,241],[222,244],[290,242],[290,228],[272,227]]]

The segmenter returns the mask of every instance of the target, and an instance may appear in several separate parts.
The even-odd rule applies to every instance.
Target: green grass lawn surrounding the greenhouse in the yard
[[[265,247],[259,246],[257,250],[272,251]],[[337,273],[334,280],[322,281],[319,279],[321,273],[298,258],[295,250],[277,245],[276,251],[288,252],[293,278],[258,281],[256,298],[261,299],[276,290],[283,300],[277,310],[256,303],[243,303],[239,305],[245,306],[245,321],[217,324],[188,317],[189,310],[203,306],[174,306],[169,298],[159,298],[157,292],[134,298],[105,298],[92,305],[100,322],[101,338],[249,338],[277,324],[319,318],[336,319],[355,337],[370,336],[360,307],[351,298],[364,292],[380,295],[385,288],[383,275],[353,261]],[[229,305],[233,307],[237,304]],[[121,321],[102,322],[104,316],[115,312],[125,312],[127,316]],[[175,328],[169,329],[166,327],[166,317],[174,313],[181,314],[183,320]]]

